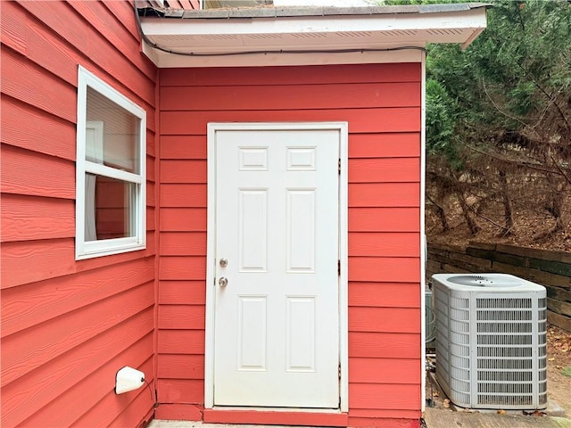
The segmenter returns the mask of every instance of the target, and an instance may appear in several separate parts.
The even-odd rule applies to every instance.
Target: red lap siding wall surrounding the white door
[[[350,133],[350,423],[418,423],[420,72],[414,63],[161,70],[161,415],[196,419],[203,407],[207,123],[339,120]]]

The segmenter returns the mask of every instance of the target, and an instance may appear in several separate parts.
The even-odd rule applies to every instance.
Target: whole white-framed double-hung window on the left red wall
[[[76,259],[145,248],[146,113],[79,67]]]

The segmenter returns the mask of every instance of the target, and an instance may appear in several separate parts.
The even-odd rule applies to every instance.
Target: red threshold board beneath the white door
[[[219,407],[205,408],[211,424],[347,426],[349,416],[335,408]]]

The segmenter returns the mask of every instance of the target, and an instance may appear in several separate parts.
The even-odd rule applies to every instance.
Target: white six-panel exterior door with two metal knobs
[[[214,144],[213,404],[338,408],[340,130]]]

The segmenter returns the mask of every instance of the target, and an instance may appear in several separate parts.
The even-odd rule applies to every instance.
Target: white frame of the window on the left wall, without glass
[[[139,119],[138,174],[86,160],[87,126],[94,128],[94,124],[97,123],[87,122],[87,86]],[[97,78],[95,74],[79,66],[77,127],[75,259],[91,259],[121,252],[144,250],[146,247],[146,111],[101,78]],[[95,129],[95,135],[103,138],[103,130]],[[96,142],[95,147],[101,144],[103,140],[101,143]],[[130,204],[133,236],[86,241],[86,173],[115,178],[135,185],[133,201]]]

